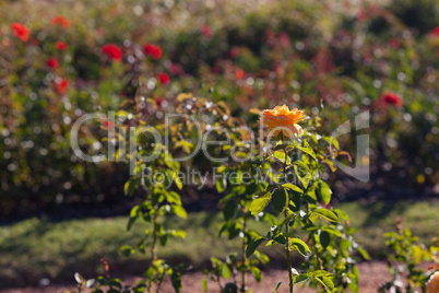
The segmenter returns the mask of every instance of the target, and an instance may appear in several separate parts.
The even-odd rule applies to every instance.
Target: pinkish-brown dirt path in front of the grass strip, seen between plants
[[[358,265],[360,272],[360,290],[361,293],[377,292],[377,288],[381,282],[389,281],[391,276],[388,272],[385,262],[369,261]],[[202,272],[193,272],[182,277],[182,290],[181,293],[202,293],[202,279],[204,274]],[[252,277],[249,277],[249,288],[252,293],[270,293],[274,291],[275,285],[282,282],[278,290],[280,293],[286,293],[288,290],[287,273],[284,270],[270,270],[263,272],[263,280],[261,283],[257,283]],[[138,278],[127,279],[127,284],[133,284],[138,281]],[[1,291],[2,293],[62,293],[66,291],[74,291],[74,285],[49,285],[45,288],[24,288],[24,289],[8,289]],[[86,290],[85,293],[91,292]],[[174,292],[170,282],[165,282],[163,286],[164,293]],[[218,285],[213,281],[207,281],[207,292],[220,293]],[[295,293],[309,293],[316,292],[310,289],[297,288]]]

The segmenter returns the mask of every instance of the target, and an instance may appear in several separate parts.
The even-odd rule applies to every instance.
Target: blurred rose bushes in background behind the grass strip
[[[437,195],[438,7],[435,0],[1,1],[0,214],[78,204],[114,213],[130,206],[122,191],[128,166],[79,160],[70,130],[86,113],[123,108],[133,86],[164,105],[145,115],[171,113],[176,96],[190,92],[224,101],[250,122],[258,119],[251,108],[304,108],[322,118],[325,134],[368,109],[370,129],[358,134],[370,134],[371,180],[328,173],[339,200]],[[54,25],[57,15],[70,27]],[[13,22],[31,30],[27,43],[11,34]],[[56,42],[68,49],[57,50]],[[109,43],[122,48],[121,62],[100,52]],[[145,43],[161,46],[159,60],[144,61]],[[59,67],[48,68],[48,58]],[[170,83],[157,83],[158,72]],[[66,89],[57,87],[64,80]],[[105,153],[107,127],[87,126],[82,149]],[[340,137],[342,149],[364,160],[355,157],[352,131]]]

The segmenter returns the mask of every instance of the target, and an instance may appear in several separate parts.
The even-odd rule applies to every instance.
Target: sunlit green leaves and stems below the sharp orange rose
[[[321,137],[316,133],[307,132],[294,143],[288,143],[281,133],[272,154],[265,156],[265,161],[261,163],[263,165],[271,162],[280,166],[280,176],[261,192],[261,197],[253,199],[250,211],[252,214],[261,214],[271,202],[274,212],[282,213],[284,218],[280,221],[266,218],[272,222],[271,230],[266,232],[266,236],[257,236],[249,243],[246,256],[250,257],[258,251],[264,241],[268,242],[266,246],[282,245],[286,251],[290,292],[295,284],[305,281],[311,286],[321,284],[329,292],[344,291],[347,288],[357,292],[358,271],[352,256],[353,250],[361,250],[366,258],[368,256],[353,239],[354,230],[348,227],[347,214],[319,204],[316,190],[319,190],[321,204],[325,206],[330,203],[332,194],[320,177],[323,171],[321,162],[324,162],[328,154],[320,152],[318,144],[315,144],[319,138]],[[313,142],[315,146],[308,141]],[[290,181],[292,179],[295,181]],[[327,223],[319,222],[318,218]],[[309,233],[305,241],[296,236],[298,230]],[[298,273],[290,263],[290,253],[294,250],[307,257],[301,265],[302,273]],[[296,276],[293,276],[293,271],[297,272]]]

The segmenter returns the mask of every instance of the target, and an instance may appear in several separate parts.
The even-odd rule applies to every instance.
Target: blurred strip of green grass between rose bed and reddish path
[[[382,233],[394,230],[395,218],[428,244],[438,235],[438,201],[377,202],[361,206],[358,202],[342,203],[354,227],[356,237],[372,256],[384,251]],[[237,251],[238,241],[217,237],[221,214],[206,212],[189,214],[188,220],[169,218],[171,227],[185,228],[186,239],[170,239],[161,248],[161,257],[170,261],[185,261],[195,268],[205,267],[210,257],[224,258]],[[29,219],[0,228],[0,284],[3,286],[37,284],[41,278],[73,282],[79,271],[91,278],[103,273],[99,262],[105,256],[118,273],[140,273],[145,270],[147,256],[137,254],[121,256],[118,248],[123,244],[135,245],[144,234],[145,225],[134,224],[126,232],[127,219],[82,219],[50,222]],[[256,223],[253,228],[264,232],[268,224]],[[380,253],[381,251],[381,253]],[[275,254],[274,254],[275,257]]]

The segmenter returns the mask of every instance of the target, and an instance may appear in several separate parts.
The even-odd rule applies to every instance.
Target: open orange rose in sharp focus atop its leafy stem
[[[285,138],[290,138],[293,134],[302,134],[304,130],[297,122],[305,119],[305,110],[297,108],[289,110],[288,106],[283,105],[274,107],[274,109],[264,109],[262,112],[263,125],[269,128],[269,131],[274,136],[283,133]]]

